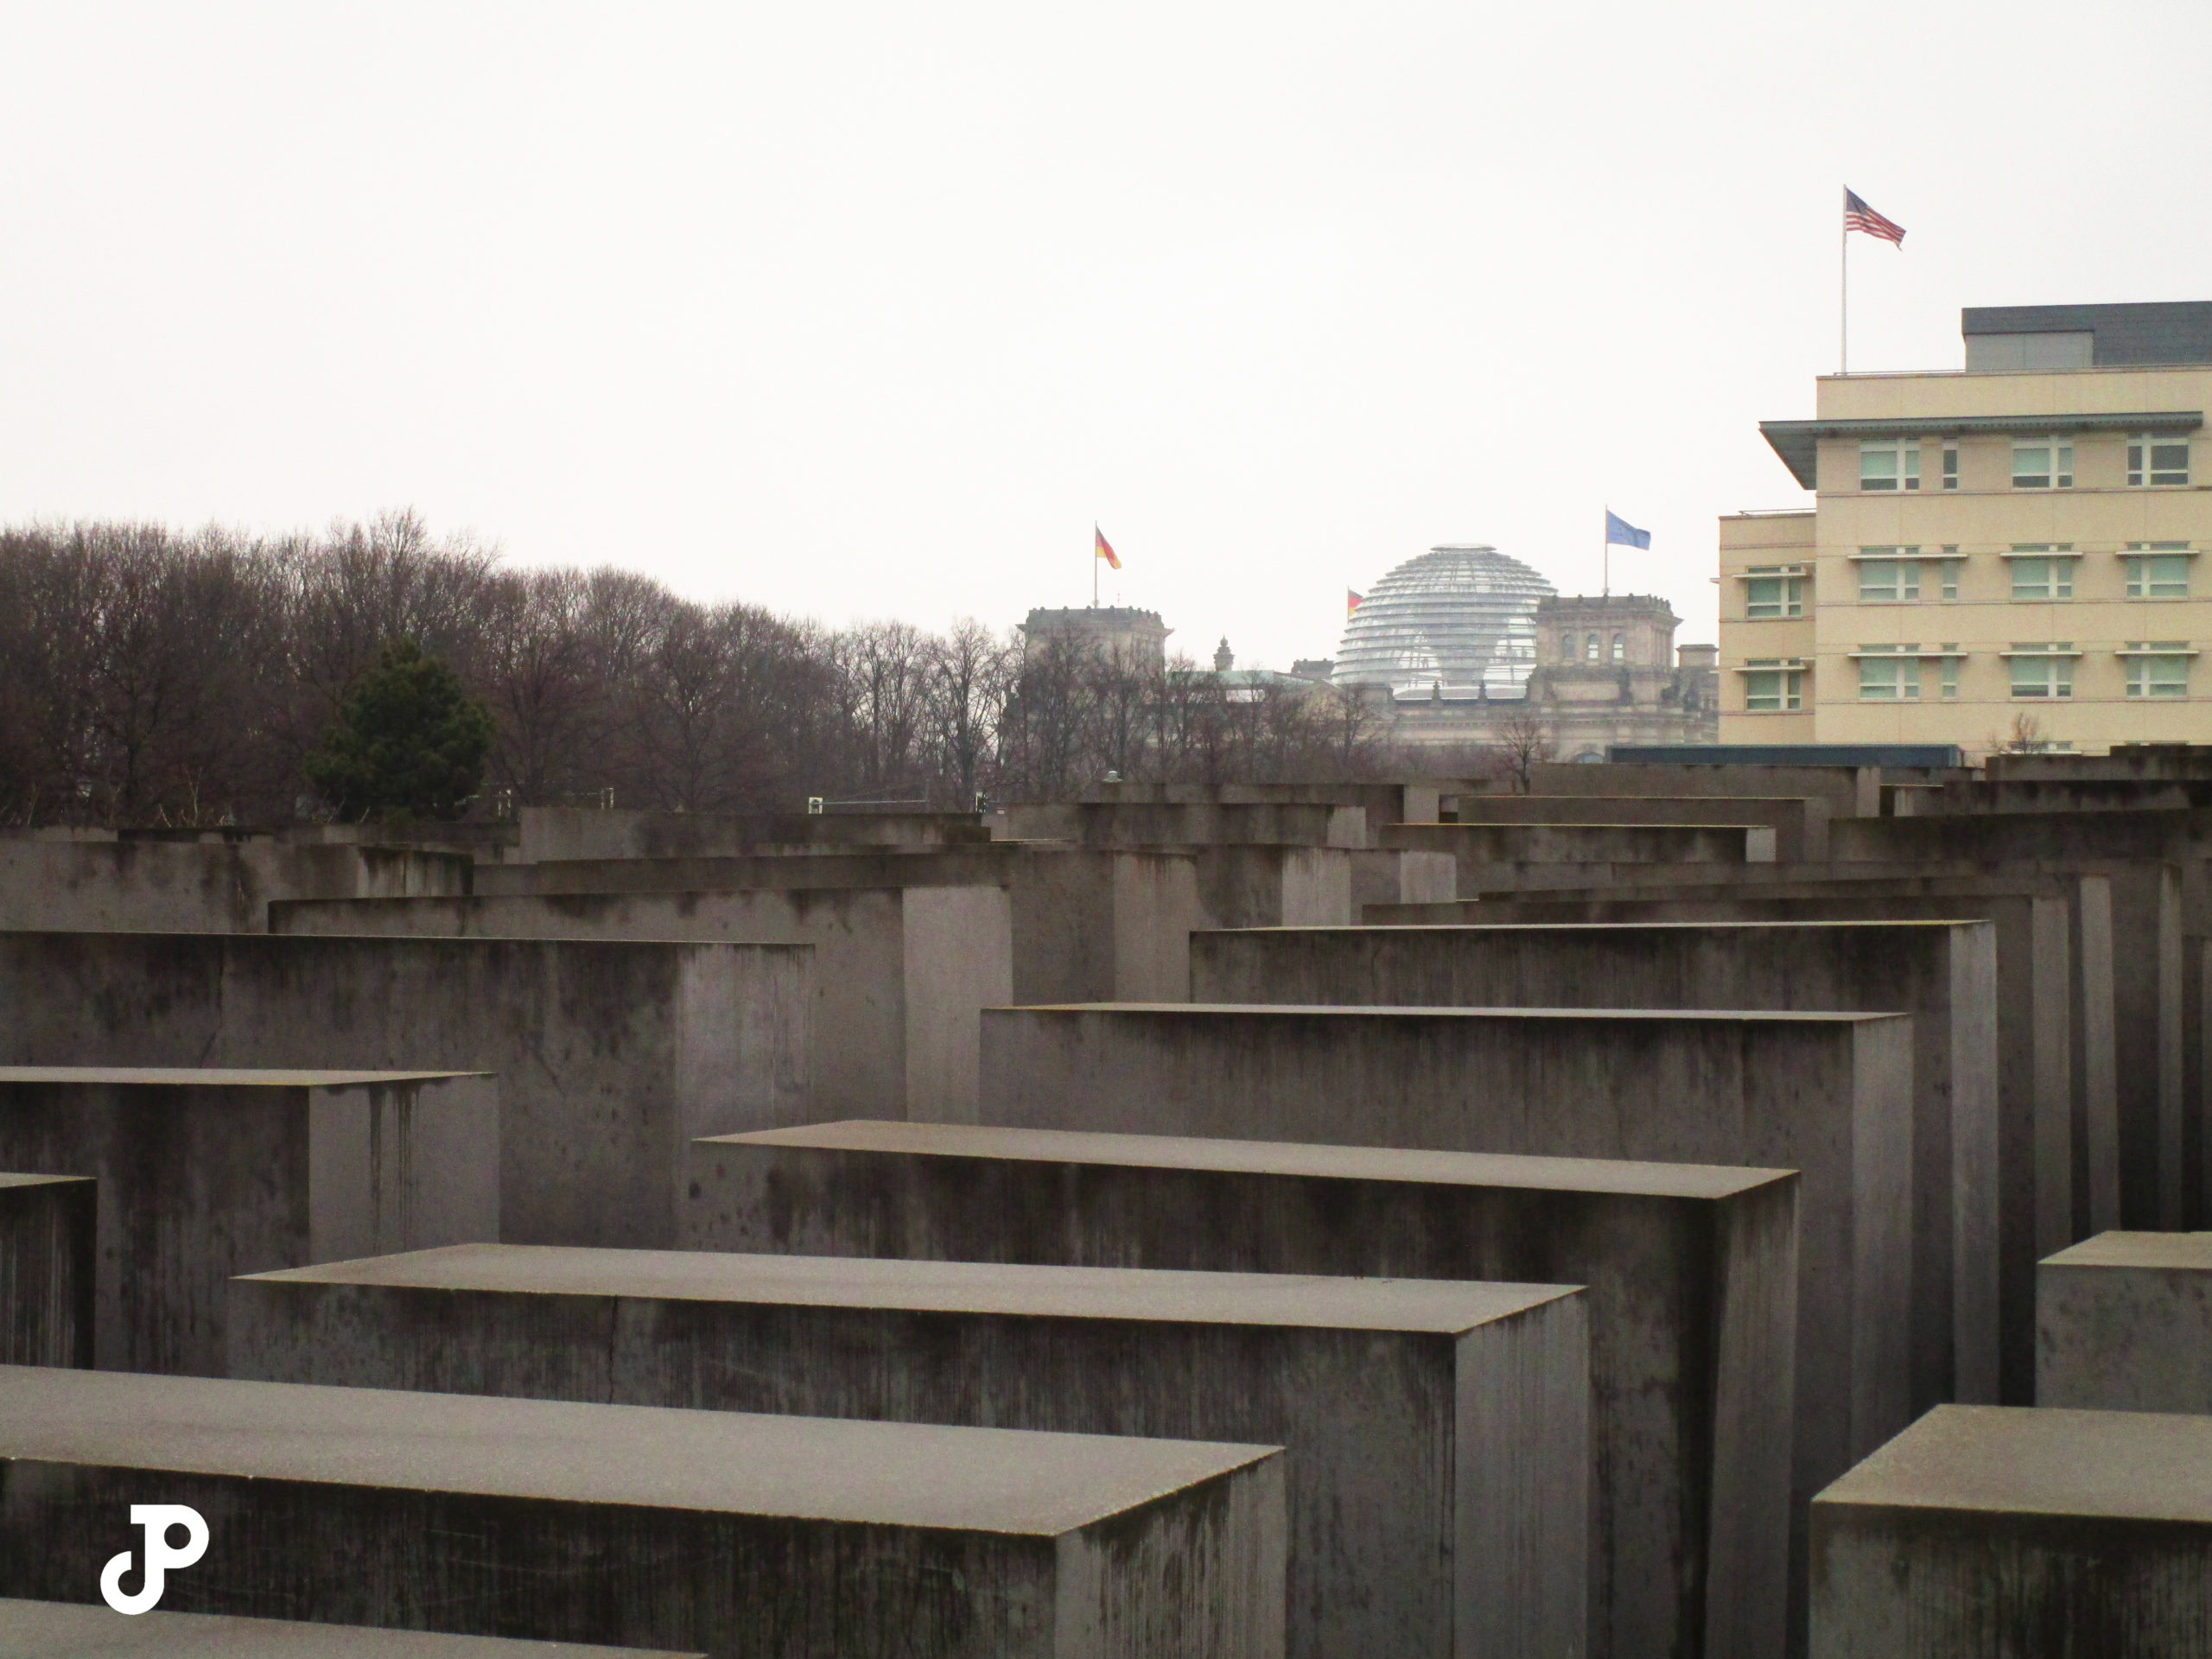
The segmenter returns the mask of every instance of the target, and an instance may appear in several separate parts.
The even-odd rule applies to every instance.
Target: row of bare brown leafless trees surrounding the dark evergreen
[[[414,513],[259,538],[0,529],[0,823],[330,818],[307,761],[387,646],[491,719],[476,814],[1053,799],[1130,781],[1380,776],[1374,712],[975,619],[825,628],[602,566],[511,568]]]

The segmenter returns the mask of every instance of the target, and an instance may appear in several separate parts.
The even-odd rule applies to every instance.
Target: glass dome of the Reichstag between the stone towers
[[[1555,593],[1495,546],[1431,546],[1374,584],[1345,624],[1332,679],[1398,697],[1524,697],[1535,602]]]

